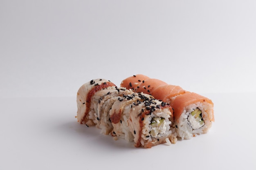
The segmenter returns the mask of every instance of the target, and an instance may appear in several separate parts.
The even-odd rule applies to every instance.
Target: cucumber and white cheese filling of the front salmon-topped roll
[[[188,121],[193,129],[198,129],[204,126],[204,120],[202,118],[202,111],[196,108],[193,112],[189,114]]]

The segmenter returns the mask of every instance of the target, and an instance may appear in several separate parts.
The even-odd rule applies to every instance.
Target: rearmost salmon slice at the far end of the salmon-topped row
[[[134,91],[137,88],[137,86],[141,82],[144,82],[146,79],[149,79],[149,77],[146,75],[142,75],[142,74],[133,75],[131,77],[124,79],[121,82],[120,87],[125,87],[127,89],[131,88]]]

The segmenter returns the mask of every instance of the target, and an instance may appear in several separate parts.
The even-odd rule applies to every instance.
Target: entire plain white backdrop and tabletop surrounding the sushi
[[[0,169],[256,169],[255,30],[253,0],[0,0]],[[148,150],[76,123],[82,84],[139,73],[212,99],[210,132]]]

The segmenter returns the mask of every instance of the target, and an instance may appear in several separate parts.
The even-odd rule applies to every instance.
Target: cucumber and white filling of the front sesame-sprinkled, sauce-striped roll
[[[153,117],[151,119],[151,137],[157,137],[159,134],[164,134],[167,128],[166,121],[163,117]]]

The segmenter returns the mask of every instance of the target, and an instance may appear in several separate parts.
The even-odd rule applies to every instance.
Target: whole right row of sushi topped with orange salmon
[[[153,95],[174,109],[173,127],[181,139],[191,139],[207,133],[214,121],[213,102],[207,97],[183,90],[180,86],[166,84],[159,79],[133,75],[121,82],[121,87]],[[141,79],[145,77],[145,79]],[[136,85],[136,86],[135,86]]]

